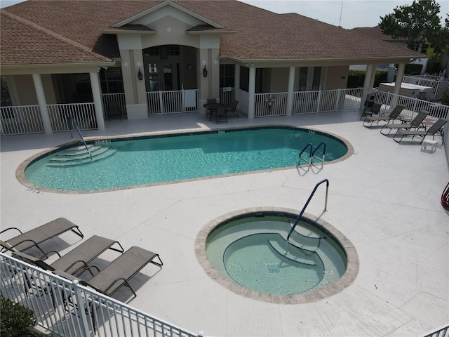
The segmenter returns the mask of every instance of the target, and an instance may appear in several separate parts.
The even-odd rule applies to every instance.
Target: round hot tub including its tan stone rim
[[[354,246],[335,227],[304,213],[287,245],[297,211],[260,207],[206,224],[195,253],[227,289],[270,303],[307,303],[349,286],[358,273]]]

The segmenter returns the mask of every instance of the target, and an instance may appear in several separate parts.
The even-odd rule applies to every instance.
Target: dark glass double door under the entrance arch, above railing
[[[179,63],[145,62],[147,91],[173,91],[179,87]]]

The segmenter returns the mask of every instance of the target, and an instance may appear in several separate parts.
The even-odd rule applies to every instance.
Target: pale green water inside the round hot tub
[[[307,220],[287,216],[248,216],[220,225],[206,239],[206,255],[222,275],[237,284],[272,295],[323,289],[347,266],[333,236]]]

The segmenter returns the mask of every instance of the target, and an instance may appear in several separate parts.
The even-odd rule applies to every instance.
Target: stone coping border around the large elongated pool
[[[198,129],[190,129],[187,131],[154,131],[149,133],[133,133],[129,135],[123,135],[123,136],[100,136],[100,137],[88,137],[85,138],[86,143],[95,143],[97,141],[104,141],[108,139],[114,139],[114,140],[130,140],[130,139],[143,139],[143,138],[149,138],[152,136],[182,136],[182,135],[192,135],[192,134],[201,134],[201,133],[218,133],[220,131],[238,131],[238,130],[254,130],[258,128],[290,128],[290,129],[299,129],[299,130],[306,130],[306,131],[315,131],[318,133],[323,133],[326,136],[330,136],[332,138],[336,138],[337,140],[340,140],[346,147],[347,147],[347,153],[344,154],[342,157],[326,161],[323,163],[323,165],[328,164],[335,164],[340,161],[344,161],[348,159],[349,157],[354,154],[354,147],[349,143],[348,140],[342,138],[341,136],[337,136],[334,133],[330,133],[327,131],[321,131],[318,128],[306,128],[302,126],[291,126],[288,124],[266,124],[266,125],[258,125],[258,126],[238,126],[238,127],[230,127],[230,128],[215,128],[215,129],[207,129],[207,130],[198,130]],[[173,180],[173,181],[166,181],[161,183],[149,183],[149,184],[142,184],[142,185],[130,185],[130,186],[123,186],[123,187],[112,187],[102,190],[83,190],[83,191],[72,191],[72,190],[53,190],[51,188],[47,187],[41,187],[39,185],[34,185],[31,183],[27,178],[25,177],[25,169],[27,169],[27,166],[32,164],[34,161],[39,159],[40,157],[46,156],[48,154],[51,154],[53,152],[57,152],[59,150],[64,150],[69,147],[73,146],[80,146],[83,145],[81,140],[74,140],[69,143],[64,143],[55,147],[50,147],[46,150],[43,150],[39,153],[34,154],[32,157],[29,157],[25,161],[22,161],[18,168],[15,171],[15,178],[24,185],[25,187],[29,188],[30,190],[39,191],[39,192],[50,192],[50,193],[59,193],[59,194],[93,194],[93,193],[103,193],[103,192],[114,192],[114,191],[120,191],[120,190],[130,190],[133,188],[140,188],[140,187],[151,187],[151,186],[159,186],[159,185],[170,185],[170,184],[177,184],[177,183],[187,183],[190,181],[196,181],[196,180],[208,180],[208,179],[214,179],[214,178],[226,178],[226,177],[232,177],[232,176],[243,176],[246,174],[253,174],[253,173],[264,173],[264,172],[272,172],[272,171],[281,171],[281,170],[289,170],[289,169],[299,169],[304,168],[304,165],[302,166],[286,166],[286,167],[279,167],[275,169],[264,169],[264,170],[258,170],[258,171],[249,171],[249,172],[239,172],[239,173],[228,173],[228,174],[222,174],[220,176],[207,176],[207,177],[200,177],[200,178],[189,178],[189,179],[182,179],[182,180]],[[314,164],[311,164],[314,166]]]

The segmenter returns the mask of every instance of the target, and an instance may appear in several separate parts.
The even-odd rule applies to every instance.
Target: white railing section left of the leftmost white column
[[[43,133],[39,105],[0,107],[0,132],[2,135]]]

